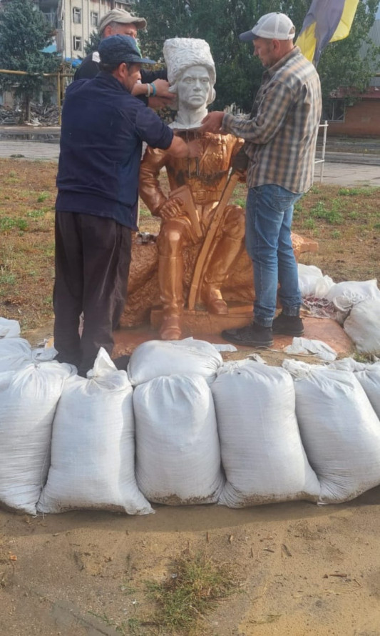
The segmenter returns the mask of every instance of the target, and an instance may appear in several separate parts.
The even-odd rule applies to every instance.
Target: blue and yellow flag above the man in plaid
[[[315,66],[329,42],[348,36],[358,4],[359,0],[312,0],[296,44]]]

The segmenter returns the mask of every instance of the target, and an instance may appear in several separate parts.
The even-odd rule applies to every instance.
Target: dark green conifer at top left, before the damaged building
[[[0,74],[0,86],[13,89],[23,104],[22,121],[30,119],[30,101],[43,84],[43,73],[53,73],[61,60],[43,53],[53,32],[32,0],[8,0],[0,12],[0,68],[29,75]]]

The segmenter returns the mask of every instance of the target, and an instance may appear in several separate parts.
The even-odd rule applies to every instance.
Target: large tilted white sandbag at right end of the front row
[[[352,372],[284,360],[294,377],[302,442],[321,483],[339,503],[380,484],[380,423]]]

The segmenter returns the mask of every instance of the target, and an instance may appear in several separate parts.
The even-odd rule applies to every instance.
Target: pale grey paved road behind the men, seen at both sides
[[[40,141],[29,141],[19,139],[0,139],[0,157],[17,157],[34,159],[40,161],[57,161],[59,154],[58,143],[42,143]],[[337,156],[338,155],[338,156]],[[357,163],[352,163],[356,158]],[[329,156],[327,155],[327,159]],[[380,156],[361,156],[352,153],[342,154],[344,162],[337,162],[339,154],[334,153],[334,161],[325,161],[324,164],[317,164],[315,169],[314,182],[321,181],[323,174],[324,184],[337,184],[347,186],[357,186],[369,184],[380,187]],[[359,163],[361,161],[365,163]],[[375,162],[369,164],[368,161]]]

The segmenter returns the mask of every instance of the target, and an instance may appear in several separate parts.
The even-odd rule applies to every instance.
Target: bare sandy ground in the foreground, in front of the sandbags
[[[170,575],[171,560],[190,550],[227,563],[240,581],[199,634],[378,636],[379,502],[376,488],[327,507],[156,507],[147,517],[1,512],[0,633],[165,634],[150,625],[144,581]],[[138,626],[130,629],[130,619]]]

